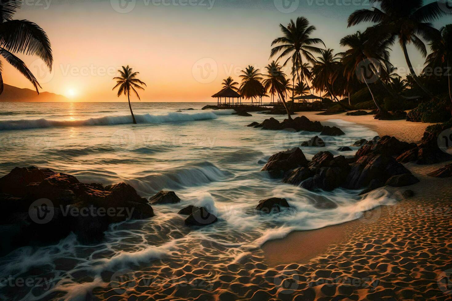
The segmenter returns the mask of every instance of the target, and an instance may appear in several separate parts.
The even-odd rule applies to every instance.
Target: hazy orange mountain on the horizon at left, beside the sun
[[[21,89],[5,84],[3,93],[0,95],[0,102],[67,102],[68,99],[62,95],[41,92],[36,90]]]

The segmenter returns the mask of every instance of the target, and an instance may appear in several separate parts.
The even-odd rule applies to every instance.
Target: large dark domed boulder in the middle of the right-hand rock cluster
[[[344,187],[357,190],[367,187],[372,182],[372,187],[375,189],[384,186],[392,176],[406,173],[409,174],[410,171],[393,157],[385,154],[368,154],[360,157],[352,165]]]

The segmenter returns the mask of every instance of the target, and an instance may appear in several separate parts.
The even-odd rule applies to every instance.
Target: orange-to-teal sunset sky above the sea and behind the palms
[[[221,89],[222,79],[232,76],[238,81],[247,65],[264,69],[270,44],[280,36],[279,23],[287,25],[290,19],[304,16],[317,27],[313,37],[339,52],[344,50],[339,47],[342,37],[366,28],[347,28],[348,15],[371,7],[368,0],[294,0],[287,10],[281,0],[118,1],[24,1],[15,19],[38,23],[52,42],[52,74],[35,57],[20,56],[42,91],[72,101],[127,101],[112,91],[112,78],[121,65],[130,65],[147,83],[142,101],[212,101],[210,96]],[[443,18],[435,26],[446,21]],[[413,65],[421,70],[424,59],[413,47],[409,52]],[[398,44],[391,62],[406,74]],[[6,62],[3,69],[5,83],[33,88]]]

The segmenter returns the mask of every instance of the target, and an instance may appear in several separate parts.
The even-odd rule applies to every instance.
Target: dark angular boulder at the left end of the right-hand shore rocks
[[[285,152],[277,153],[268,159],[262,171],[269,171],[272,176],[282,176],[287,171],[298,167],[306,167],[308,160],[300,148],[288,149]]]

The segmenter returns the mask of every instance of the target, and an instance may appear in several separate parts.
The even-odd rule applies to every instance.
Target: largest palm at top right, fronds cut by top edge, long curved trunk
[[[348,27],[363,22],[373,22],[377,24],[368,29],[372,32],[373,40],[376,42],[386,41],[388,46],[391,46],[398,39],[413,79],[427,95],[431,96],[432,94],[416,75],[406,46],[413,43],[424,57],[427,56],[427,50],[421,38],[432,41],[438,36],[438,30],[433,28],[429,22],[446,14],[438,3],[447,0],[438,0],[428,5],[424,5],[424,0],[370,1],[378,3],[380,9],[373,7],[372,9],[356,10],[348,17]]]

